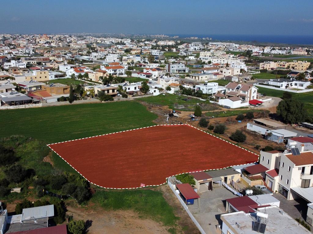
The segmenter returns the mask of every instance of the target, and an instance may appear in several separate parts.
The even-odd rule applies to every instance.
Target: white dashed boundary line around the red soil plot
[[[138,129],[152,128],[152,127],[156,127],[156,126],[171,126],[171,125],[188,125],[188,126],[190,126],[190,127],[192,127],[192,128],[195,128],[195,129],[200,130],[200,131],[203,132],[203,133],[209,134],[209,135],[211,135],[211,136],[213,136],[213,137],[216,137],[216,138],[218,138],[218,139],[220,139],[220,140],[222,140],[222,141],[225,141],[225,142],[227,142],[227,143],[229,143],[229,144],[232,144],[232,145],[234,145],[234,146],[236,146],[236,147],[239,147],[239,148],[241,148],[241,149],[244,149],[244,148],[242,148],[242,147],[240,147],[240,146],[238,146],[238,145],[235,145],[235,144],[233,144],[233,143],[231,143],[231,142],[229,142],[229,141],[227,141],[227,140],[224,140],[224,139],[222,139],[222,138],[220,138],[220,137],[218,137],[218,136],[215,136],[215,135],[213,135],[213,134],[210,134],[210,133],[208,133],[208,132],[205,132],[205,131],[203,131],[203,130],[197,128],[197,127],[194,127],[194,126],[192,126],[192,125],[190,125],[190,124],[157,124],[157,125],[152,125],[152,126],[148,126],[148,127],[130,129],[130,130],[125,130],[125,131],[120,131],[120,132],[114,132],[114,133],[107,133],[107,134],[102,134],[102,135],[97,135],[97,136],[92,136],[92,137],[84,137],[84,138],[79,138],[79,139],[74,139],[74,140],[61,141],[61,142],[57,142],[57,143],[47,144],[47,146],[48,146],[54,153],[56,153],[57,155],[59,155],[57,152],[55,152],[55,151],[50,147],[50,145],[59,144],[59,143],[64,143],[64,142],[70,142],[70,141],[77,141],[77,140],[82,140],[82,139],[88,139],[88,138],[94,138],[94,137],[99,137],[99,136],[106,136],[106,135],[111,135],[111,134],[115,134],[115,133],[129,132],[129,131],[138,130]],[[251,151],[248,150],[248,149],[244,149],[244,150],[245,150],[245,151],[248,151],[249,153],[255,154],[255,153],[251,152]],[[257,155],[257,156],[259,157],[259,154],[255,154],[255,155]],[[69,164],[61,155],[59,155],[59,157],[62,158],[67,164]],[[255,162],[253,162],[253,163],[257,163],[257,162],[258,162],[258,161],[255,161]],[[245,164],[238,164],[238,165],[233,165],[233,166],[229,166],[229,167],[242,166],[242,165],[245,165]],[[79,173],[79,174],[80,174],[83,178],[85,178],[89,183],[92,183],[92,182],[89,181],[85,176],[83,176],[79,171],[77,171],[71,164],[69,164],[69,166],[71,166],[77,173]],[[201,171],[190,171],[190,172],[185,172],[185,173],[179,173],[179,174],[172,175],[172,176],[169,176],[169,177],[173,177],[173,176],[177,176],[177,175],[181,175],[181,174],[186,174],[186,173],[193,173],[193,172],[203,172],[203,171],[221,170],[221,169],[225,169],[225,168],[228,168],[228,167],[224,167],[224,168],[215,168],[215,169],[207,169],[207,170],[201,170]],[[166,184],[166,183],[167,183],[166,181],[167,181],[167,179],[168,179],[169,177],[167,177],[167,178],[165,179],[165,182],[162,183],[162,184],[146,185],[146,186],[141,186],[141,187],[136,187],[136,188],[144,188],[144,187],[151,187],[151,186],[160,186],[160,185]],[[106,188],[106,187],[100,186],[100,185],[95,184],[95,183],[92,183],[92,184],[94,184],[94,185],[96,185],[96,186],[98,186],[98,187],[100,187],[100,188]],[[136,188],[106,188],[106,189],[136,189]]]

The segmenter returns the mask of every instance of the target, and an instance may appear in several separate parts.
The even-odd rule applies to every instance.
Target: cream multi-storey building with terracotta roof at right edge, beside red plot
[[[292,148],[280,151],[260,152],[260,164],[268,168],[265,183],[287,200],[303,198],[313,202],[313,153]]]

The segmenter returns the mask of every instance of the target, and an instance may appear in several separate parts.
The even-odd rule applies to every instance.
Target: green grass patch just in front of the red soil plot
[[[132,209],[140,217],[152,218],[166,226],[175,225],[179,219],[162,193],[153,190],[97,191],[91,202],[107,210]]]

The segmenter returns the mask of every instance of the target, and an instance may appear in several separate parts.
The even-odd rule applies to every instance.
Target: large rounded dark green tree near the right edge
[[[304,103],[293,98],[281,100],[276,108],[276,114],[290,124],[303,122],[308,117]]]

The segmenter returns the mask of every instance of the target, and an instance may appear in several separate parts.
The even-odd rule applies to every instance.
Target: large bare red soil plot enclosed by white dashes
[[[179,173],[258,160],[257,154],[187,124],[151,126],[49,147],[90,182],[105,188],[160,185]]]

